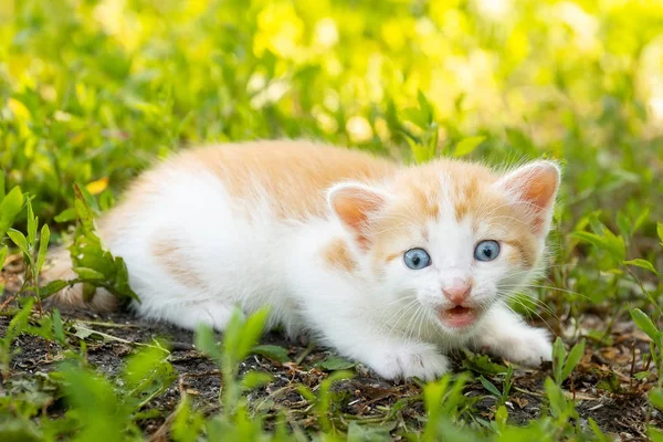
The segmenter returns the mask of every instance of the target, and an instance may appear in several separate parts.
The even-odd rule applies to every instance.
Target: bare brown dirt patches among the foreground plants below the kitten
[[[150,343],[156,338],[167,339],[172,348],[169,361],[179,372],[178,381],[165,394],[152,400],[147,408],[158,410],[158,418],[143,422],[147,434],[160,431],[164,422],[179,401],[182,389],[189,397],[194,398],[198,407],[212,413],[219,408],[220,376],[215,365],[196,351],[193,336],[187,330],[170,327],[165,324],[146,323],[136,318],[130,313],[110,315],[91,315],[90,313],[75,312],[63,315],[65,318],[84,320],[85,325],[94,330],[117,339],[106,338],[98,341],[88,341],[87,358],[91,365],[107,376],[115,376],[122,368],[124,358],[133,350],[133,344]],[[0,317],[0,336],[6,334],[10,317]],[[625,440],[645,439],[645,419],[648,404],[644,392],[649,389],[646,382],[631,381],[630,372],[642,370],[635,366],[631,368],[633,352],[639,354],[646,348],[646,343],[640,334],[633,334],[627,324],[618,324],[619,335],[614,334],[615,345],[596,350],[591,346],[587,349],[578,372],[573,377],[576,401],[581,419],[593,418],[599,427],[613,435]],[[305,347],[298,343],[284,339],[278,333],[270,333],[263,337],[262,344],[273,344],[287,349],[292,360],[298,364],[280,365],[262,356],[252,356],[242,364],[241,371],[262,370],[274,375],[274,381],[250,398],[253,404],[270,399],[273,407],[285,407],[288,410],[302,410],[305,417],[307,402],[296,390],[297,383],[314,388],[325,377],[326,372],[314,366],[327,358],[328,352],[322,348]],[[9,381],[35,376],[39,372],[49,372],[54,369],[57,360],[52,355],[57,354],[56,348],[49,350],[49,344],[39,337],[21,335],[13,344],[21,351],[11,362],[12,375]],[[634,351],[633,351],[634,350]],[[462,357],[455,355],[456,367],[462,364]],[[357,418],[383,417],[398,400],[413,398],[406,402],[399,413],[402,422],[411,430],[420,423],[418,417],[423,414],[423,407],[418,399],[420,387],[412,382],[388,382],[371,375],[361,366],[357,366],[356,378],[338,382],[335,390],[343,392],[344,412]],[[509,417],[514,422],[526,423],[536,419],[541,412],[543,380],[550,375],[550,367],[540,370],[517,370],[511,400],[507,402]],[[606,382],[618,378],[615,391],[606,389]],[[6,381],[7,382],[7,381]],[[609,382],[608,382],[609,383]],[[571,389],[570,385],[565,386]],[[603,388],[601,388],[603,387]],[[495,398],[490,396],[480,382],[470,382],[465,388],[469,397],[478,397],[476,412],[484,419],[491,418],[494,412]],[[54,403],[46,412],[57,415],[62,412],[62,404]],[[296,413],[295,413],[296,415]],[[656,423],[660,417],[654,410],[650,420]],[[306,422],[303,419],[302,424]],[[581,422],[582,424],[582,422]]]

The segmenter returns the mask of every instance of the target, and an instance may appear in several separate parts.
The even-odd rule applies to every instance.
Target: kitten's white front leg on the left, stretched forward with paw
[[[337,323],[323,333],[341,355],[359,360],[385,379],[433,380],[450,371],[449,360],[436,346],[386,336],[383,330],[375,328],[367,323]]]

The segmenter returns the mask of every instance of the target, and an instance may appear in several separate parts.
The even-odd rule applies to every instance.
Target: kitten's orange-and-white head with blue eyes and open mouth
[[[418,312],[457,334],[537,269],[559,179],[550,161],[499,175],[440,160],[380,187],[337,185],[328,201],[386,308]]]

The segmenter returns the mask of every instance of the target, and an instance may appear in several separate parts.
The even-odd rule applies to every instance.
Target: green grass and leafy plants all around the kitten
[[[152,160],[182,146],[282,137],[403,161],[559,159],[550,272],[527,306],[565,332],[569,348],[585,338],[587,355],[611,348],[610,327],[634,320],[650,349],[633,350],[630,381],[607,381],[604,390],[646,396],[651,420],[642,425],[654,425],[655,409],[663,411],[663,4],[506,1],[504,11],[490,12],[481,8],[487,3],[2,2],[0,262],[20,253],[25,269],[19,305],[2,311],[13,319],[0,339],[0,439],[147,436],[146,403],[177,379],[168,345],[135,346],[117,376],[95,371],[80,324],[41,312],[40,298],[62,286],[39,284],[46,245],[65,235],[77,246],[96,244],[92,217],[113,207]],[[81,280],[133,296],[122,260],[95,248],[98,259],[80,263],[87,269]],[[603,319],[600,327],[586,323],[590,315]],[[223,376],[221,411],[204,412],[181,394],[165,427],[173,440],[382,440],[389,431],[412,440],[604,436],[593,421],[579,424],[577,402],[565,394],[580,347],[567,356],[556,345],[538,419],[515,424],[504,406],[511,375],[471,361],[469,377],[421,387],[425,412],[406,431],[398,412],[380,422],[343,418],[332,383],[352,371],[334,371],[334,364],[315,391],[301,386],[306,415],[256,410],[248,392],[269,379],[240,375],[238,366],[257,341],[261,318],[238,317],[233,326],[220,347],[209,330],[197,335]],[[239,339],[240,330],[250,338]],[[21,334],[54,348],[56,364],[30,389],[19,388],[11,362]],[[476,418],[463,396],[475,375],[497,382],[481,381],[498,406],[487,418]],[[45,412],[54,400],[62,410]],[[302,421],[308,423],[293,423]]]

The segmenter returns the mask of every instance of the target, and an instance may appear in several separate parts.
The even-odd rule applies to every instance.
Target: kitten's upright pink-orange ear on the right
[[[552,220],[555,197],[561,171],[552,161],[534,161],[505,175],[497,181],[532,215],[532,231],[547,234]]]

